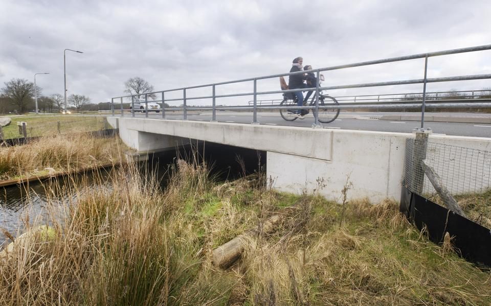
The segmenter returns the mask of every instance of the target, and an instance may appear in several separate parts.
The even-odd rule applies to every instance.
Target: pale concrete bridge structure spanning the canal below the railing
[[[336,201],[341,199],[348,176],[352,183],[348,199],[398,200],[406,139],[414,137],[412,133],[187,120],[107,120],[119,128],[123,142],[140,153],[174,148],[190,139],[266,151],[266,175],[274,180],[276,189],[296,194],[316,189]],[[430,135],[430,141],[491,151],[491,138]]]

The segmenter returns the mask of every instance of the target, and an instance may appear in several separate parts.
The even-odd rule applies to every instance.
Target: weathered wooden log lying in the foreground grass
[[[263,226],[262,226],[262,232],[264,233],[271,233],[273,232],[275,225],[278,224],[282,220],[282,216],[279,214],[273,215],[270,218],[268,218]],[[258,230],[253,229],[249,230],[231,241],[227,242],[224,245],[221,245],[217,247],[216,249],[213,250],[212,252],[212,263],[213,265],[221,268],[221,269],[227,269],[230,266],[232,266],[242,255],[244,251],[244,240],[247,239],[247,237],[254,236],[254,234],[257,234]]]

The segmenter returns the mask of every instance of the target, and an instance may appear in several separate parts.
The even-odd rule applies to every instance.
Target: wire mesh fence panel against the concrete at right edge
[[[403,184],[414,193],[432,195],[436,191],[423,173],[421,159],[426,159],[452,195],[491,189],[491,152],[407,139]]]

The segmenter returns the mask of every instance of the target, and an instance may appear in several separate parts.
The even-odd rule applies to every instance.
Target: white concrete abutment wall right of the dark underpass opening
[[[267,152],[266,175],[275,181],[277,189],[285,192],[316,189],[327,199],[339,201],[348,180],[352,184],[348,199],[398,200],[406,138],[410,136],[336,130],[332,136],[331,161]],[[318,180],[324,182],[319,184]]]

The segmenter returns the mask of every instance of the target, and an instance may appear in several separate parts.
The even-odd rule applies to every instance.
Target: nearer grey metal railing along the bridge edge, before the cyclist
[[[161,95],[161,100],[154,100],[151,102],[162,102],[162,106],[165,105],[165,102],[172,102],[172,101],[182,101],[182,107],[172,107],[172,108],[167,108],[167,107],[161,107],[162,111],[162,119],[165,119],[166,117],[166,110],[182,110],[183,111],[183,119],[187,120],[187,112],[190,110],[211,110],[212,111],[212,120],[211,121],[216,121],[216,110],[252,110],[253,111],[253,121],[252,124],[259,124],[257,121],[257,111],[261,109],[315,109],[315,122],[313,124],[313,127],[318,127],[319,126],[319,120],[318,120],[318,114],[319,114],[319,109],[353,109],[353,108],[377,108],[377,109],[400,109],[400,108],[414,108],[414,109],[421,109],[421,129],[424,127],[425,123],[425,109],[426,107],[434,107],[434,108],[443,108],[443,107],[471,107],[471,108],[479,108],[479,107],[490,107],[491,106],[491,99],[479,99],[481,101],[474,101],[469,103],[469,102],[461,102],[459,101],[450,101],[446,100],[444,102],[438,101],[436,103],[435,101],[429,101],[432,103],[427,104],[427,98],[430,98],[428,96],[429,92],[427,93],[426,91],[426,86],[428,83],[436,83],[436,82],[449,82],[449,81],[465,81],[465,80],[483,80],[483,79],[491,79],[491,74],[481,74],[481,75],[466,75],[466,76],[453,76],[453,77],[441,77],[441,78],[428,78],[427,77],[427,72],[428,72],[428,59],[430,57],[435,57],[435,56],[443,56],[443,55],[451,55],[451,54],[459,54],[459,53],[467,53],[467,52],[476,52],[476,51],[484,51],[484,50],[491,50],[491,44],[488,45],[481,45],[481,46],[474,46],[470,48],[462,48],[462,49],[453,49],[453,50],[445,50],[445,51],[438,51],[438,52],[431,52],[431,53],[422,53],[422,54],[415,54],[415,55],[409,55],[409,56],[401,56],[401,57],[393,57],[393,58],[386,58],[386,59],[380,59],[380,60],[372,60],[372,61],[366,61],[366,62],[359,62],[359,63],[352,63],[352,64],[347,64],[347,65],[338,65],[338,66],[331,66],[331,67],[324,67],[324,68],[318,68],[318,69],[312,69],[312,70],[304,70],[304,71],[299,71],[299,72],[294,72],[294,73],[283,73],[283,74],[276,74],[276,75],[269,75],[269,76],[262,76],[262,77],[255,77],[255,78],[247,78],[247,79],[241,79],[241,80],[234,80],[234,81],[227,81],[227,82],[218,82],[218,83],[212,83],[212,84],[205,84],[205,85],[197,85],[197,86],[189,86],[189,87],[183,87],[183,88],[175,88],[175,89],[168,89],[168,90],[161,90],[161,91],[154,91],[154,92],[147,92],[144,93],[145,96],[145,117],[148,117],[148,96],[149,95],[155,95],[155,94],[160,94]],[[345,68],[352,68],[352,67],[361,67],[361,66],[368,66],[368,65],[376,65],[376,64],[383,64],[383,63],[390,63],[390,62],[399,62],[399,61],[406,61],[406,60],[413,60],[413,59],[425,59],[425,65],[423,68],[423,78],[422,79],[412,79],[412,80],[401,80],[401,81],[388,81],[388,82],[375,82],[375,83],[361,83],[361,84],[346,84],[346,85],[337,85],[337,86],[320,86],[319,84],[319,77],[321,72],[326,72],[330,70],[338,70],[338,69],[345,69]],[[299,74],[304,74],[304,73],[315,73],[317,75],[317,84],[316,87],[311,87],[311,88],[303,88],[301,89],[302,91],[308,91],[308,90],[314,90],[315,91],[315,100],[316,103],[314,106],[277,106],[277,105],[260,105],[258,104],[257,97],[260,95],[271,95],[275,93],[286,93],[286,92],[296,92],[299,89],[288,89],[288,90],[271,90],[271,91],[257,91],[257,81],[259,80],[265,80],[265,79],[272,79],[272,78],[278,78],[278,77],[284,77],[284,76],[292,76],[292,75],[299,75]],[[216,87],[220,85],[228,85],[228,84],[237,84],[237,83],[243,83],[243,82],[253,82],[253,91],[251,92],[244,92],[244,93],[230,93],[226,95],[216,95]],[[359,103],[359,102],[350,102],[350,103],[344,103],[343,100],[341,100],[343,103],[340,105],[319,105],[319,95],[322,90],[333,90],[333,89],[348,89],[348,88],[365,88],[365,87],[378,87],[378,86],[393,86],[393,85],[407,85],[407,84],[422,84],[422,92],[421,92],[421,99],[419,100],[410,100],[410,101],[394,101],[388,102],[385,101],[385,98],[383,98],[383,101],[381,102],[380,97],[377,97],[377,101],[375,102],[374,100],[370,100],[367,103]],[[202,97],[189,97],[186,95],[186,90],[189,89],[196,89],[196,88],[206,88],[206,87],[211,87],[211,96],[202,96]],[[182,98],[173,98],[173,99],[165,99],[165,94],[168,92],[176,92],[176,91],[182,91],[183,95]],[[123,98],[131,98],[132,102],[132,111],[131,115],[135,116],[135,111],[134,111],[134,98],[136,96],[141,96],[141,95],[129,95],[129,96],[121,96],[121,97],[116,97],[111,99],[111,112],[113,115],[115,115],[115,101],[120,100],[120,109],[121,109],[121,116],[124,115],[124,110],[123,110]],[[230,98],[230,97],[245,97],[245,96],[253,96],[253,103],[252,106],[216,106],[216,99],[217,98]],[[377,95],[378,96],[378,95]],[[384,95],[380,95],[383,96]],[[365,96],[367,97],[367,96]],[[189,100],[203,100],[203,99],[211,99],[212,105],[211,106],[192,106],[189,107],[187,106],[187,102]]]

